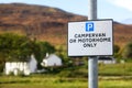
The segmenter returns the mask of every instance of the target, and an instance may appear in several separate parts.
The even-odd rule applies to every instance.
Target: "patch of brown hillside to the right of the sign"
[[[122,46],[132,41],[132,25],[113,24],[114,43]]]

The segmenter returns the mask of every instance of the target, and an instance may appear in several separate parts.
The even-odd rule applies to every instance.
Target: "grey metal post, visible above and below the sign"
[[[97,0],[88,0],[88,20],[97,19]],[[98,57],[88,57],[89,88],[98,88]]]

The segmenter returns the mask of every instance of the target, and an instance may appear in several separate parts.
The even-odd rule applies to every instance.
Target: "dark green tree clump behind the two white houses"
[[[2,63],[25,62],[30,59],[31,54],[34,54],[41,63],[46,53],[54,52],[54,46],[47,42],[31,41],[26,36],[12,33],[0,34],[0,61]]]

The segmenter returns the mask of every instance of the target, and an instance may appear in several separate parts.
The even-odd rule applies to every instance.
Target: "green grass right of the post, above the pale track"
[[[125,64],[100,64],[99,75],[101,76],[132,76],[132,63]]]

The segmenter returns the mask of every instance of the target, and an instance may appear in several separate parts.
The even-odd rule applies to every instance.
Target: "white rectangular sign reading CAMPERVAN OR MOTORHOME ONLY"
[[[113,54],[112,20],[68,22],[68,56]]]

